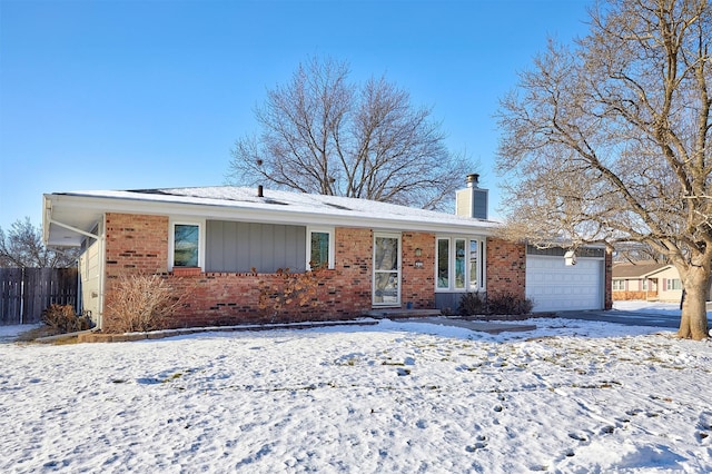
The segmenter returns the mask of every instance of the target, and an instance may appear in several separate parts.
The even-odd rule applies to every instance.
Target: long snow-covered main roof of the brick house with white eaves
[[[256,188],[214,186],[47,194],[44,240],[50,246],[80,245],[103,213],[484,235],[498,226],[492,220],[368,199],[269,189],[259,197]]]

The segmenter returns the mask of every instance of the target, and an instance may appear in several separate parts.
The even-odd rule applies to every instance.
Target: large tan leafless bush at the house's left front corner
[[[170,316],[182,305],[186,293],[176,296],[158,275],[123,275],[113,288],[108,305],[112,333],[164,329]]]

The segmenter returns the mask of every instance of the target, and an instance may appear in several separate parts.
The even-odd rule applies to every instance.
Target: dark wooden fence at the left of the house
[[[52,303],[77,307],[77,268],[0,268],[0,326],[34,324]]]

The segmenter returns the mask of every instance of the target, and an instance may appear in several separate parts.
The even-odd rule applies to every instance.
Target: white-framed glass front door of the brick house
[[[400,306],[400,236],[374,234],[374,306]]]

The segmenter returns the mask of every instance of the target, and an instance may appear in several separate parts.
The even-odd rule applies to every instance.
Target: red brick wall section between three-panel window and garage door
[[[487,293],[526,297],[526,245],[487,238]]]

